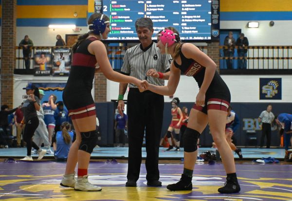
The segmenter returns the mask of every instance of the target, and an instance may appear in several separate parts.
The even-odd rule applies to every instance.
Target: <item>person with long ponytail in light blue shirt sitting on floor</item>
[[[61,124],[61,130],[53,136],[54,156],[57,160],[67,160],[73,141],[73,132],[69,122]]]

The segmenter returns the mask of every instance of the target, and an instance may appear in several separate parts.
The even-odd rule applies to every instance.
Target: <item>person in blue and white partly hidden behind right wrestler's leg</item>
[[[235,151],[239,157],[239,159],[242,159],[242,153],[241,153],[241,148],[237,148],[233,143],[232,143],[232,136],[234,135],[234,132],[237,130],[239,127],[239,118],[238,115],[235,113],[235,111],[232,110],[232,107],[229,106],[227,109],[227,118],[226,118],[226,127],[225,127],[225,137],[226,140],[231,147],[233,151]],[[215,143],[212,143],[213,147],[216,147]]]

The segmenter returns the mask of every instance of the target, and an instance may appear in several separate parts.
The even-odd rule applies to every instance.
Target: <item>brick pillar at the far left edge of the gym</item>
[[[16,2],[2,0],[1,105],[13,107],[13,73],[15,69]]]

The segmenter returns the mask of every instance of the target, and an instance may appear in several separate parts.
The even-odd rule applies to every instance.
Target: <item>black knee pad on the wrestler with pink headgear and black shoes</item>
[[[183,149],[185,152],[193,152],[198,149],[197,142],[200,133],[192,128],[186,128],[183,134]]]

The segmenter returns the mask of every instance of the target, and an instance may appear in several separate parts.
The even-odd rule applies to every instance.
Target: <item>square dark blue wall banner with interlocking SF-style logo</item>
[[[282,78],[259,78],[260,100],[282,99]]]

